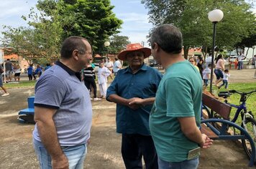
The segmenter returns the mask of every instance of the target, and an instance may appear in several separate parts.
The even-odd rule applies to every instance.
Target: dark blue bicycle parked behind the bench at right
[[[253,92],[256,92],[256,90],[252,90],[251,92],[238,92],[236,90],[229,90],[229,92],[219,92],[218,96],[224,97],[226,99],[226,100],[224,100],[224,102],[227,105],[237,108],[234,118],[230,121],[236,122],[239,115],[241,115],[241,118],[242,118],[241,127],[243,127],[244,130],[246,130],[248,132],[248,134],[252,137],[252,140],[254,141],[254,143],[256,145],[256,120],[254,119],[254,115],[252,114],[252,111],[247,111],[247,107],[246,107],[246,101],[250,97],[250,95],[252,95]],[[234,93],[241,95],[239,105],[233,105],[232,103],[229,103],[227,101],[227,97],[229,97],[230,95],[232,95]],[[213,115],[213,114],[211,113],[211,115]],[[249,158],[251,158],[252,149],[250,148],[249,141],[242,140],[242,146],[243,146],[244,151],[247,154],[247,156]]]

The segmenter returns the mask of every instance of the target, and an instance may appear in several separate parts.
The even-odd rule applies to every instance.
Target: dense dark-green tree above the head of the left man
[[[78,0],[72,5],[60,4],[64,37],[86,37],[95,53],[102,54],[106,39],[118,33],[117,29],[121,28],[122,20],[117,19],[111,11],[114,6],[111,6],[109,0]]]

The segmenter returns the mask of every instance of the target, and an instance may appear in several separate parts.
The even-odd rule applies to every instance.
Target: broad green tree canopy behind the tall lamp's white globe
[[[189,47],[202,47],[205,53],[209,52],[206,49],[212,46],[213,28],[208,13],[213,9],[224,12],[216,31],[219,48],[233,49],[242,39],[255,34],[252,33],[256,27],[255,15],[250,11],[252,6],[244,0],[142,0],[142,4],[149,9],[153,25],[168,23],[180,28],[185,54]]]

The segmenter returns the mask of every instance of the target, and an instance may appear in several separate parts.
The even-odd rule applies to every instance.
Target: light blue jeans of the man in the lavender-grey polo
[[[41,142],[33,139],[35,153],[40,163],[41,169],[51,169],[52,159],[47,153]],[[69,169],[83,169],[83,162],[86,158],[87,147],[84,145],[76,145],[69,147],[61,147],[68,158]]]

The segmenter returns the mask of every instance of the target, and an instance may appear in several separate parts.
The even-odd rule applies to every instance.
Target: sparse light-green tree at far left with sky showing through
[[[2,32],[4,38],[1,39],[5,47],[12,47],[12,53],[22,56],[24,59],[37,61],[45,58],[49,62],[57,59],[60,54],[60,44],[63,30],[58,15],[58,6],[52,4],[53,1],[44,1],[44,6],[38,1],[37,8],[47,9],[39,14],[32,8],[30,14],[22,16],[28,21],[29,27],[12,28],[4,26],[7,30]],[[37,63],[37,62],[36,62]]]

